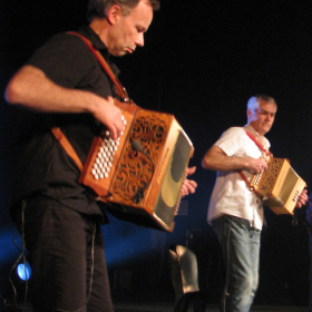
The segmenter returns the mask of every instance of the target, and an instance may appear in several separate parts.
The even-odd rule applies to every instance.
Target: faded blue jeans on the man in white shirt
[[[223,215],[213,221],[221,243],[225,285],[221,311],[248,312],[259,284],[261,231],[247,220]]]

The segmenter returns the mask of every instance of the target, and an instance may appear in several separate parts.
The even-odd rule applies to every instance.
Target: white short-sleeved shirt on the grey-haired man
[[[247,136],[243,127],[227,129],[214,144],[227,156],[260,158],[262,150]],[[264,138],[264,148],[270,143]],[[253,173],[243,170],[251,181]],[[261,199],[251,191],[236,170],[217,172],[217,178],[208,206],[208,222],[223,214],[248,220],[257,230],[263,225],[263,206]]]

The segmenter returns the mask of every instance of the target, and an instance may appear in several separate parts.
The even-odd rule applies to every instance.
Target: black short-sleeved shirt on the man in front
[[[108,51],[89,27],[79,29],[108,60]],[[108,60],[109,61],[109,60]],[[86,43],[75,35],[59,33],[49,39],[27,62],[66,88],[92,91],[104,98],[116,97],[115,87]],[[115,74],[117,67],[109,62]],[[85,214],[101,215],[89,191],[78,183],[80,172],[50,129],[62,129],[85,163],[99,121],[90,114],[35,114],[29,133],[22,138],[12,203],[35,194],[46,195]]]

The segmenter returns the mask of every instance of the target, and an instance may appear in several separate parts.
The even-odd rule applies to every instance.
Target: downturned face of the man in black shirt
[[[147,31],[153,20],[153,8],[146,0],[140,0],[133,11],[123,16],[118,14],[110,29],[107,42],[108,51],[116,57],[133,53],[137,46],[144,46],[144,32]]]

